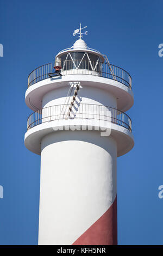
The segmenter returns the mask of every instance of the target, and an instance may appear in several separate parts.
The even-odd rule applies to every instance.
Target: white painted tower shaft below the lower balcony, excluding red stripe
[[[116,197],[117,144],[97,131],[58,131],[41,148],[39,245],[71,245]]]

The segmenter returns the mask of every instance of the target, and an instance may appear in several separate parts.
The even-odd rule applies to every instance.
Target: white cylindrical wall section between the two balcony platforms
[[[70,87],[71,85],[67,87],[61,87],[51,92],[48,92],[47,94],[45,94],[45,96],[43,96],[43,121],[52,121],[58,118],[62,119],[68,117],[68,109],[70,107],[72,95],[74,93],[76,85],[74,84],[74,87],[72,88],[71,97],[68,96],[66,100],[66,96]],[[57,106],[49,108],[50,106],[61,105],[65,103],[66,105],[64,107]],[[98,119],[99,114],[101,115],[101,119],[104,118],[102,117],[104,115],[108,116],[109,118],[111,117],[110,111],[108,111],[107,108],[104,109],[99,107],[99,105],[114,108],[117,107],[117,102],[113,95],[103,89],[92,88],[89,86],[80,86],[80,89],[78,90],[78,95],[76,96],[76,101],[74,103],[75,105],[72,107],[71,118],[78,117]],[[97,107],[83,104],[97,105]]]

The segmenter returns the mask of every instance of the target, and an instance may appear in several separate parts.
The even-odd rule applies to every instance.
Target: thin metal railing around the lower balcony
[[[64,104],[39,109],[28,117],[27,131],[36,125],[61,119],[109,121],[131,132],[131,119],[126,113],[112,107],[85,103],[74,103],[72,107],[70,104]]]

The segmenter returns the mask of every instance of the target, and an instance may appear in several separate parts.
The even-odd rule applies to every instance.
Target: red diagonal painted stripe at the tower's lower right
[[[110,208],[73,245],[117,245],[117,197]]]

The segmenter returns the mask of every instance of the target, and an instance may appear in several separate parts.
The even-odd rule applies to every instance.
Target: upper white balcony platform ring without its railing
[[[130,87],[121,82],[98,75],[63,75],[61,77],[46,78],[28,87],[26,91],[26,104],[35,111],[42,108],[42,97],[46,93],[61,87],[68,86],[70,82],[78,81],[81,86],[97,87],[107,90],[117,98],[117,108],[125,112],[133,106],[134,96]],[[66,95],[65,95],[66,96]]]

